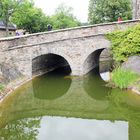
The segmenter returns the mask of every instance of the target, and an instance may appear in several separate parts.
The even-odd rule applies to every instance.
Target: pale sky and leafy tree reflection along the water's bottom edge
[[[128,140],[128,123],[45,116],[12,121],[0,130],[0,138],[1,140]]]

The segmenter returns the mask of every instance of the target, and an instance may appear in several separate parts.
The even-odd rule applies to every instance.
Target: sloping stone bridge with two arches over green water
[[[8,82],[69,65],[72,75],[84,75],[99,65],[105,34],[125,30],[140,20],[114,22],[0,39],[0,75]],[[23,80],[24,79],[24,80]]]

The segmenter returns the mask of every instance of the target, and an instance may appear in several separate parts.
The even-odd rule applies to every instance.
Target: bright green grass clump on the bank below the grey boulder
[[[113,84],[115,85],[115,87],[119,87],[121,89],[128,88],[135,81],[137,81],[138,78],[139,78],[138,74],[129,70],[124,70],[120,67],[116,68],[112,72]]]

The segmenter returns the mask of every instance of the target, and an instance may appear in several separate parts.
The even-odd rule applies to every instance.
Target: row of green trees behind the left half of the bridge
[[[72,8],[64,4],[59,5],[52,16],[45,15],[41,9],[35,7],[33,0],[0,0],[0,8],[0,18],[5,21],[6,27],[11,21],[17,28],[29,33],[47,31],[48,24],[52,24],[53,29],[80,25],[73,16]]]

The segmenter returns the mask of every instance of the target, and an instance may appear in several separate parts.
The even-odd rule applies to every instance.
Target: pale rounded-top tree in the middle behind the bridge
[[[60,4],[51,17],[51,24],[54,29],[64,29],[79,26],[80,22],[73,16],[72,8],[65,4]]]

